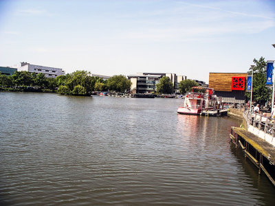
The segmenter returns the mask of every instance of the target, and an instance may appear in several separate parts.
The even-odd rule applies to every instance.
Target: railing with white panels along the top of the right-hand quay
[[[272,117],[267,117],[267,113],[258,114],[251,113],[248,109],[243,112],[243,118],[246,124],[263,130],[264,133],[272,135],[275,137],[275,119]]]

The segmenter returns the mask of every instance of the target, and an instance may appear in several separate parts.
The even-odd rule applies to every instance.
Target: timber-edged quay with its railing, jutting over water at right
[[[245,158],[267,176],[275,186],[275,128],[274,119],[260,114],[243,112],[243,127],[232,127],[230,141],[241,147]]]

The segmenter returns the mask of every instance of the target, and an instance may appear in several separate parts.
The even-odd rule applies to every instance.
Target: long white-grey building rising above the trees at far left
[[[65,74],[65,71],[60,68],[31,65],[28,62],[21,62],[19,65],[15,66],[17,67],[18,71],[44,73],[46,78],[56,78],[56,76],[61,76]]]

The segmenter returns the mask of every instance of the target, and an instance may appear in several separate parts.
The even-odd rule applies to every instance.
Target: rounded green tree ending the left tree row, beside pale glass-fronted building
[[[107,80],[107,87],[111,91],[125,92],[131,87],[131,81],[123,75],[115,75]]]

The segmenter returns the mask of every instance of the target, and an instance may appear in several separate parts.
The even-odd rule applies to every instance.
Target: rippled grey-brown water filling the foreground
[[[0,205],[274,205],[228,117],[181,100],[0,93]]]

